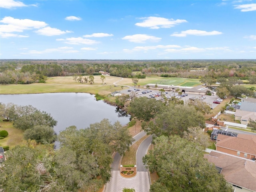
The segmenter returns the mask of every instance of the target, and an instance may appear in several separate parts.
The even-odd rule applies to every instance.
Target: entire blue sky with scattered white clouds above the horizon
[[[1,59],[256,59],[255,0],[1,0]]]

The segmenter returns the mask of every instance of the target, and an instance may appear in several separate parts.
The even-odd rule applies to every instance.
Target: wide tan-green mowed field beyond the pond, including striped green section
[[[34,94],[34,93],[57,93],[57,92],[84,92],[91,94],[108,95],[114,91],[122,90],[121,86],[134,86],[131,78],[120,78],[114,76],[105,76],[106,79],[102,84],[100,76],[94,76],[94,83],[80,83],[73,80],[73,76],[51,77],[46,83],[33,84],[9,84],[0,85],[0,94]],[[118,86],[114,86],[116,83]],[[164,78],[164,77],[146,77],[139,79],[138,85],[145,84],[169,84],[177,86],[191,86],[200,84],[198,79],[185,78]],[[128,87],[124,87],[126,89]]]

